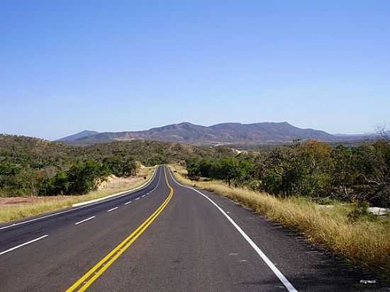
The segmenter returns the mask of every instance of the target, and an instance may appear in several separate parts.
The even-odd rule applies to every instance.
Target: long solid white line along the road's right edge
[[[238,232],[240,232],[240,234],[243,235],[243,237],[250,244],[250,246],[253,247],[253,249],[255,249],[255,252],[257,252],[257,254],[259,254],[259,256],[262,258],[262,260],[267,264],[267,266],[269,266],[269,269],[271,269],[274,272],[274,274],[279,278],[279,280],[283,283],[283,285],[286,287],[286,289],[289,292],[297,292],[296,288],[294,288],[294,286],[292,286],[292,284],[289,282],[289,280],[286,279],[284,274],[282,274],[282,272],[279,271],[279,269],[274,265],[274,263],[271,262],[271,260],[264,254],[264,252],[262,252],[260,247],[257,247],[255,242],[253,242],[253,240],[244,232],[244,230],[242,230],[240,228],[240,226],[238,226],[238,224],[235,223],[235,221],[232,218],[230,218],[230,216],[228,214],[226,214],[224,210],[221,209],[220,206],[218,206],[213,200],[211,200],[211,198],[208,198],[208,196],[206,196],[204,193],[201,193],[201,191],[198,191],[197,189],[191,188],[189,186],[184,186],[184,185],[180,184],[179,182],[177,182],[174,179],[172,172],[169,172],[169,174],[171,175],[173,181],[176,184],[178,184],[179,186],[182,186],[186,189],[191,189],[193,191],[196,191],[196,193],[201,194],[201,196],[204,196],[208,201],[210,201],[214,206],[216,206],[216,208],[218,210],[220,210],[221,213],[223,215],[225,215],[226,218],[228,218],[229,222],[232,223],[232,225],[235,227],[235,229],[237,229]]]

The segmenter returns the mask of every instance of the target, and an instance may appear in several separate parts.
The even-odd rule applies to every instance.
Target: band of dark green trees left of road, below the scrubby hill
[[[137,173],[135,159],[109,157],[103,162],[77,160],[67,169],[32,169],[10,162],[0,163],[0,191],[3,196],[79,195],[95,190],[109,174],[130,176]]]

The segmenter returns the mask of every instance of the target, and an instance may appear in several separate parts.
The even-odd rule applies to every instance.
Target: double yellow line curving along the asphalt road
[[[138,226],[137,229],[135,229],[128,237],[126,237],[123,242],[121,242],[117,247],[115,247],[109,254],[106,255],[99,263],[97,263],[92,269],[87,271],[84,276],[82,276],[79,280],[77,280],[70,288],[67,289],[67,292],[73,292],[73,291],[86,291],[89,286],[91,286],[91,283],[94,283],[96,279],[101,276],[101,274],[108,269],[108,266],[111,266],[113,262],[118,259],[118,257],[121,257],[121,254],[125,252],[130,245],[135,242],[135,240],[140,237],[140,235],[145,232],[145,230],[149,227],[150,224],[157,218],[158,215],[164,210],[164,208],[168,205],[169,201],[171,201],[171,198],[173,196],[173,189],[172,186],[170,186],[168,179],[167,179],[167,172],[165,171],[164,167],[164,174],[165,174],[165,181],[167,181],[167,186],[171,190],[169,193],[169,196],[165,199],[165,201],[161,204],[157,210],[155,210],[152,215],[150,215],[149,218],[147,218],[140,226]]]

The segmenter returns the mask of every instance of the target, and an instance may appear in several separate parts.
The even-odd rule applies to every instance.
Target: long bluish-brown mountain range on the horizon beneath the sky
[[[76,134],[79,135],[79,134]],[[72,140],[69,140],[72,137]],[[246,142],[291,142],[295,139],[338,140],[321,130],[302,129],[289,123],[221,123],[206,127],[191,123],[165,125],[160,128],[133,132],[97,133],[74,139],[61,139],[77,144],[94,144],[113,140],[157,140],[196,144],[223,144]]]

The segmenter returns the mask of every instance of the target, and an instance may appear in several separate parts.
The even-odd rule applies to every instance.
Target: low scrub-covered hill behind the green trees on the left
[[[144,165],[179,162],[186,158],[223,157],[233,153],[226,147],[201,147],[148,140],[113,141],[89,146],[50,142],[35,137],[1,135],[0,164],[11,163],[21,168],[67,168],[84,159],[103,161],[107,157],[134,157]]]

